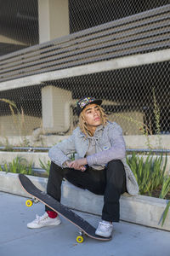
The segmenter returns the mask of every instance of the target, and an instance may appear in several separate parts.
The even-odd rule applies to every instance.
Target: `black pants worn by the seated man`
[[[104,170],[94,170],[88,166],[85,172],[61,168],[51,162],[47,193],[57,201],[61,198],[61,183],[64,177],[77,187],[88,189],[96,195],[104,195],[102,219],[119,221],[119,199],[121,194],[127,191],[126,174],[121,160],[111,160]],[[50,209],[46,207],[46,211],[48,210]]]

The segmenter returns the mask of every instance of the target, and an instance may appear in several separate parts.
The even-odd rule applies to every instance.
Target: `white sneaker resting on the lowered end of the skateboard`
[[[108,221],[102,220],[101,222],[99,222],[99,226],[95,231],[95,235],[110,237],[112,231],[113,231],[113,225]]]

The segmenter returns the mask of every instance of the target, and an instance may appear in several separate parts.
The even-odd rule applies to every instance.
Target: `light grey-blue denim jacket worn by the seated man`
[[[139,186],[132,170],[127,166],[126,146],[122,137],[122,128],[115,122],[108,122],[105,127],[99,125],[94,137],[85,137],[77,127],[71,137],[49,149],[49,158],[58,166],[69,160],[68,154],[77,154],[77,159],[84,158],[88,151],[89,140],[95,140],[96,154],[87,156],[88,166],[105,166],[111,160],[122,160],[127,177],[127,192],[131,195],[138,195]]]

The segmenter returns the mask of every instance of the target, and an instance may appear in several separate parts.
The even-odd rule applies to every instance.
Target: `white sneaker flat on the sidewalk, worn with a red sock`
[[[39,229],[45,226],[59,225],[61,220],[59,215],[56,218],[49,218],[48,213],[45,212],[41,217],[37,216],[31,223],[27,224],[29,229]]]

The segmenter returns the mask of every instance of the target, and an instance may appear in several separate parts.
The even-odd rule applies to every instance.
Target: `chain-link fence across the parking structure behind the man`
[[[47,137],[70,135],[82,96],[101,98],[124,136],[168,135],[169,59],[161,50],[169,54],[169,1],[68,1],[70,35],[37,48],[40,3],[0,2],[0,143],[22,136],[46,147]]]

